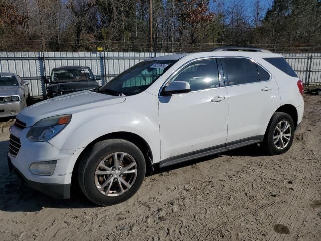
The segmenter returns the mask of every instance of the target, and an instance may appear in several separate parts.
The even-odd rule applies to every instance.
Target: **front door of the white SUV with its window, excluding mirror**
[[[227,137],[227,91],[216,59],[187,64],[173,81],[189,82],[191,92],[159,96],[162,166],[222,150]]]

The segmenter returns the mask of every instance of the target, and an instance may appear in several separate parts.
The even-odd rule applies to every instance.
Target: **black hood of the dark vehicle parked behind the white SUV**
[[[48,91],[51,92],[76,92],[87,89],[97,88],[99,85],[96,81],[74,81],[74,82],[66,82],[66,83],[57,83],[50,84],[47,87]]]

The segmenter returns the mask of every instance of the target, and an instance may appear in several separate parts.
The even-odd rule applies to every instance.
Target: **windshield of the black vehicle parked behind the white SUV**
[[[93,81],[94,76],[89,69],[53,70],[52,82]]]

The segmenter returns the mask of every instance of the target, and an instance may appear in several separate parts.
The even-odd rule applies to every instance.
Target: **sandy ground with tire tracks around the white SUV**
[[[292,148],[257,145],[146,177],[125,203],[53,200],[8,175],[0,124],[0,240],[321,240],[321,96],[305,96]]]

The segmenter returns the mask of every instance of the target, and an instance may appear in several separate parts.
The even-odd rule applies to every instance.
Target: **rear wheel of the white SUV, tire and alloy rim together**
[[[294,123],[290,115],[283,112],[275,112],[267,127],[263,148],[270,155],[278,155],[287,152],[294,139]]]

